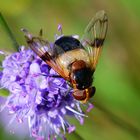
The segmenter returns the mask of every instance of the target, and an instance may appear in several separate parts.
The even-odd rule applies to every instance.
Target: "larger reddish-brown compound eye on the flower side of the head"
[[[78,101],[83,101],[86,99],[86,92],[85,90],[76,90],[73,93],[73,97]]]

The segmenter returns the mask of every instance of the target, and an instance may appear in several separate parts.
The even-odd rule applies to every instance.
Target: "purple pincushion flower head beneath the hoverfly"
[[[30,136],[37,140],[66,139],[65,133],[76,128],[68,119],[74,117],[83,124],[86,115],[81,105],[87,111],[93,107],[75,100],[67,82],[53,77],[58,74],[24,46],[19,52],[5,55],[2,68],[1,88],[10,92],[3,109],[8,109],[20,123],[27,119]]]

